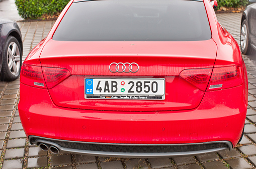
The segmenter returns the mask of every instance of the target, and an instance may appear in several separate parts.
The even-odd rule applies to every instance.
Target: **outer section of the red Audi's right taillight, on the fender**
[[[241,66],[217,67],[213,69],[207,91],[235,87],[242,83]]]

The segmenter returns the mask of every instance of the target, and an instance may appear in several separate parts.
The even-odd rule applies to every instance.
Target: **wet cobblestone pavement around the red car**
[[[239,41],[241,13],[218,14],[222,25]],[[49,32],[53,21],[19,22],[24,40],[23,59]],[[256,167],[256,62],[243,56],[249,78],[248,111],[244,136],[231,151],[172,158],[114,158],[77,154],[53,155],[30,145],[23,131],[17,104],[19,79],[0,82],[0,167],[3,168],[255,168]]]

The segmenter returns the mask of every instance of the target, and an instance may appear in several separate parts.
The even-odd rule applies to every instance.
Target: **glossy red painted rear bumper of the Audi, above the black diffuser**
[[[247,110],[243,88],[241,85],[206,92],[200,105],[192,110],[100,111],[56,106],[46,89],[21,83],[18,108],[27,136],[120,144],[225,140],[234,147],[241,136]]]

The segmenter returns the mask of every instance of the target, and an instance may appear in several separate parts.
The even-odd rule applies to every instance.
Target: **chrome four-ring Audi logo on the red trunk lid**
[[[122,63],[122,62],[116,63],[116,62],[113,62],[109,65],[109,70],[113,73],[115,73],[115,72],[136,73],[139,70],[139,65],[137,63],[134,63],[134,62],[132,62],[132,63],[128,63],[128,62],[126,62],[126,63]]]

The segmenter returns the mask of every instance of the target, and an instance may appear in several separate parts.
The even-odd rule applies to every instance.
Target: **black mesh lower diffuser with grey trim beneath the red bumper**
[[[31,144],[44,143],[48,147],[58,148],[59,153],[76,153],[95,156],[118,157],[163,157],[163,156],[188,156],[200,155],[210,152],[218,152],[224,149],[232,149],[230,141],[212,141],[187,144],[118,144],[67,141],[29,136]]]

